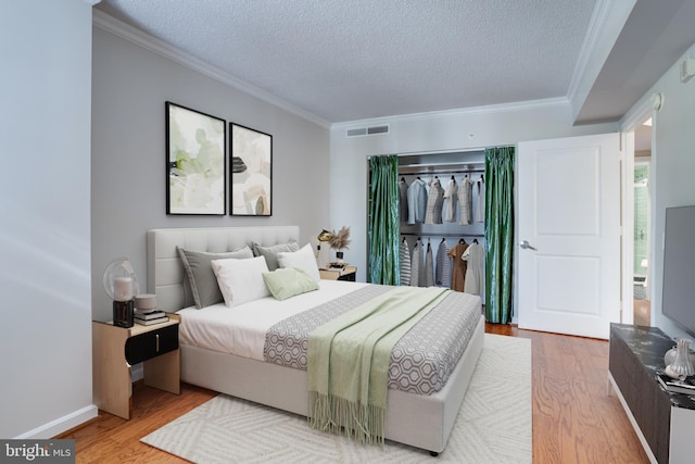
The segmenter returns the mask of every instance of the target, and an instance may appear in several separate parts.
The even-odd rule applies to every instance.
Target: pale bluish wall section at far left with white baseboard
[[[91,7],[0,2],[0,437],[50,438],[91,396]]]

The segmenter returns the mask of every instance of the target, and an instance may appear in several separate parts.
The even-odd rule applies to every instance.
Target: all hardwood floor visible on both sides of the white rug
[[[607,341],[508,325],[485,331],[532,340],[534,463],[648,463],[618,398],[607,394]],[[185,463],[139,439],[215,396],[188,384],[180,396],[136,384],[130,421],[100,412],[58,438],[76,439],[77,463]]]

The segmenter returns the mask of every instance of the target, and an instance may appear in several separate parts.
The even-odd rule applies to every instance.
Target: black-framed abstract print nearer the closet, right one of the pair
[[[273,214],[273,136],[229,123],[232,216]]]

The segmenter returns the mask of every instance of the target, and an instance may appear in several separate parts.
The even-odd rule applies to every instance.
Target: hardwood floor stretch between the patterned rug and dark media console
[[[608,341],[509,325],[485,331],[532,340],[533,462],[648,463],[618,397],[608,396]]]

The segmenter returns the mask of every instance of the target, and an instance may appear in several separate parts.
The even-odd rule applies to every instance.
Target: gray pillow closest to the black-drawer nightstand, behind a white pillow
[[[253,258],[253,252],[249,247],[225,253],[207,253],[203,251],[189,251],[177,247],[181,256],[186,277],[193,294],[193,302],[199,310],[205,306],[220,303],[224,300],[217,284],[217,277],[213,271],[213,260],[225,260],[233,258],[244,260]]]

